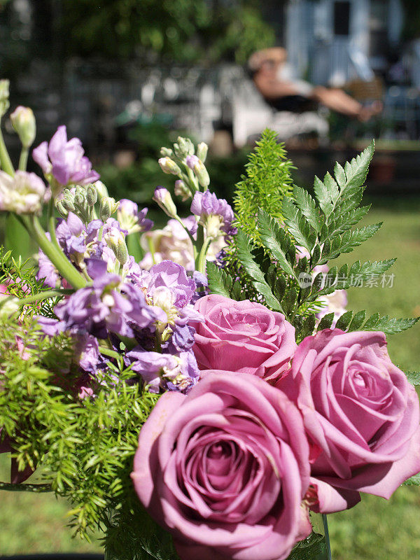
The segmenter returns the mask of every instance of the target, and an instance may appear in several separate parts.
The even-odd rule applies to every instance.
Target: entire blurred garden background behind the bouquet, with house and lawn
[[[155,187],[173,183],[159,149],[179,134],[209,144],[211,186],[228,200],[267,126],[309,189],[374,137],[366,222],[385,223],[352,262],[398,261],[392,287],[350,291],[349,309],[420,315],[419,0],[0,0],[0,77],[11,110],[34,109],[36,145],[65,124],[111,195],[152,214]],[[389,337],[402,370],[420,370],[419,339],[419,325]],[[0,455],[3,480],[7,469]],[[99,552],[71,540],[66,508],[0,492],[0,556]],[[420,557],[419,489],[329,517],[334,560]]]

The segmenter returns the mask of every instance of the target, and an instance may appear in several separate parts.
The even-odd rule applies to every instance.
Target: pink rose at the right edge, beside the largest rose
[[[344,510],[360,491],[389,498],[420,471],[419,399],[383,332],[305,338],[276,386],[297,403],[312,444],[314,510]]]

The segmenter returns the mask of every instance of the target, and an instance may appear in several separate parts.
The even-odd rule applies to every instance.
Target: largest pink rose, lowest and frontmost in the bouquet
[[[162,395],[132,479],[183,560],[281,560],[311,531],[300,413],[248,374],[207,372],[188,395]]]

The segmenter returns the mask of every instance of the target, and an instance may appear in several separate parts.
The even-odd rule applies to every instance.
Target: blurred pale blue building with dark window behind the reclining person
[[[314,84],[372,80],[400,47],[400,0],[290,0],[284,9],[289,62]]]

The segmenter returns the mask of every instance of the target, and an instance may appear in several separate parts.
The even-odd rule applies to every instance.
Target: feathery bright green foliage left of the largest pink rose
[[[134,374],[120,360],[109,363],[97,396],[80,400],[72,339],[40,335],[26,316],[0,323],[1,437],[13,442],[20,470],[40,468],[52,491],[70,500],[70,525],[88,538],[132,494],[139,431],[158,395],[127,384]]]

